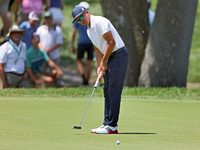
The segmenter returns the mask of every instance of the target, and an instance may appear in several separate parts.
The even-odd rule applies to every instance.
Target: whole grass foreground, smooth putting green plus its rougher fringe
[[[0,150],[200,147],[200,89],[125,88],[118,135],[90,133],[103,121],[102,88],[96,89],[81,130],[72,128],[79,125],[92,88],[3,91]]]

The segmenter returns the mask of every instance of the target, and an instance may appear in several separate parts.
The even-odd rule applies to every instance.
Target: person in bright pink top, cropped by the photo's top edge
[[[39,24],[41,21],[42,13],[43,13],[43,5],[45,0],[16,0],[15,7],[15,22],[20,25],[22,22],[28,19],[28,15],[30,12],[34,11],[38,14]],[[18,12],[21,6],[21,12]]]

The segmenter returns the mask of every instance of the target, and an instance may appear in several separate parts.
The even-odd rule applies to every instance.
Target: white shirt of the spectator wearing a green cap
[[[36,32],[40,36],[40,42],[46,48],[50,48],[55,44],[63,44],[63,33],[59,26],[48,30],[47,26],[43,25],[40,26]],[[52,60],[60,58],[60,47],[51,51],[49,57]]]

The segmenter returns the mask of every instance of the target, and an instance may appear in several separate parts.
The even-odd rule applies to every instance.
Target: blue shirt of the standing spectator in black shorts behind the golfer
[[[74,28],[78,30],[78,44],[91,44],[91,40],[87,35],[87,26],[84,26],[80,23],[74,22]]]

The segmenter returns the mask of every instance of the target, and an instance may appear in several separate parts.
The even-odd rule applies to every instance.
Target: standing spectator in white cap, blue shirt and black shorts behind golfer
[[[85,9],[89,9],[90,5],[87,2],[79,3],[79,6],[83,6]],[[92,60],[93,60],[93,51],[94,47],[87,35],[87,26],[81,25],[80,23],[75,22],[73,25],[73,35],[72,35],[72,53],[76,52],[74,47],[74,41],[76,32],[78,30],[78,51],[77,51],[77,68],[80,75],[83,78],[83,85],[87,85],[90,81],[91,73],[92,73]],[[82,64],[82,58],[84,57],[84,53],[87,51],[87,77],[85,77],[84,66]]]

